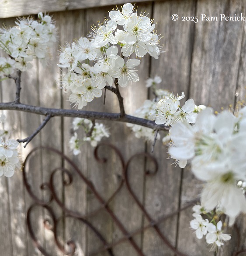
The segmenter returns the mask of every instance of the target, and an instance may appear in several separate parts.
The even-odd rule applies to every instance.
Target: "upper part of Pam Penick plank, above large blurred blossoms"
[[[197,15],[220,17],[245,13],[245,1],[198,1]],[[195,25],[191,97],[215,110],[234,103],[243,21],[200,21]]]

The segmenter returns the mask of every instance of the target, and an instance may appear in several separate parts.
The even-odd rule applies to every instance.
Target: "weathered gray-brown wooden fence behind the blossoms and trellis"
[[[70,108],[66,96],[59,90],[60,71],[57,67],[58,49],[65,42],[72,42],[80,36],[86,36],[90,25],[102,21],[116,4],[123,0],[2,0],[0,1],[0,24],[13,25],[17,15],[37,14],[39,11],[50,11],[59,29],[59,40],[53,50],[53,59],[48,67],[34,62],[34,67],[22,77],[21,100],[23,103],[43,107]],[[150,76],[159,75],[163,82],[161,88],[169,89],[175,94],[185,92],[186,99],[193,98],[195,103],[205,104],[220,110],[229,104],[245,98],[246,90],[246,33],[245,21],[220,21],[220,14],[235,16],[242,13],[246,16],[246,0],[167,0],[142,2],[137,1],[139,10],[146,10],[155,22],[158,33],[163,35],[164,45],[158,60],[149,56],[142,58],[139,66],[140,81],[132,86],[121,89],[124,96],[126,112],[131,114],[140,107],[148,96],[145,80]],[[140,3],[141,2],[141,3]],[[107,6],[111,4],[111,6]],[[105,6],[105,7],[104,7]],[[72,10],[72,11],[71,11]],[[172,21],[171,15],[178,14],[179,20]],[[216,16],[218,21],[201,21],[201,14]],[[182,21],[181,17],[198,16],[199,21]],[[3,102],[14,100],[14,84],[11,81],[1,82],[0,97]],[[103,97],[88,104],[85,110],[118,112],[118,102],[114,95],[107,92],[106,105]],[[6,111],[9,127],[18,139],[30,135],[40,124],[43,117],[17,111]],[[71,119],[53,117],[42,132],[27,146],[21,149],[23,159],[35,146],[52,146],[71,157],[83,174],[94,183],[100,194],[108,198],[118,186],[120,167],[117,156],[108,151],[107,167],[101,167],[94,161],[93,149],[84,144],[82,154],[73,157],[68,142],[71,136]],[[129,129],[121,123],[105,123],[110,127],[111,137],[107,139],[121,150],[125,160],[133,154],[150,151],[150,145],[136,139]],[[158,142],[154,154],[159,164],[159,171],[152,177],[146,177],[146,163],[136,160],[131,165],[131,182],[139,200],[154,220],[179,210],[192,199],[197,198],[201,185],[189,171],[189,167],[180,170],[170,166],[166,148]],[[41,198],[47,197],[46,192],[38,185],[49,179],[52,168],[62,164],[59,157],[42,152],[35,156],[28,165],[28,181],[36,188]],[[76,179],[73,187],[62,187],[61,177],[57,177],[57,191],[66,202],[66,206],[80,212],[89,213],[98,207],[87,186]],[[1,256],[35,256],[41,255],[32,244],[26,227],[26,211],[32,203],[24,189],[22,173],[17,172],[12,178],[0,178],[0,255]],[[129,231],[148,224],[139,211],[138,206],[129,198],[125,188],[117,199],[110,204],[118,218],[125,223]],[[55,210],[56,214],[60,210]],[[212,256],[210,247],[204,239],[195,238],[189,228],[191,207],[163,222],[159,228],[170,243],[180,252],[188,256]],[[52,231],[43,228],[43,219],[50,218],[46,210],[37,207],[32,214],[34,229],[44,248],[52,256],[62,255],[53,241]],[[239,218],[241,244],[244,248],[246,237],[245,217]],[[91,222],[104,235],[107,242],[114,242],[122,234],[115,227],[107,213],[93,217]],[[59,239],[76,241],[76,254],[87,255],[101,244],[88,228],[78,221],[66,218],[59,224]],[[229,229],[233,238],[224,246],[218,255],[231,256],[237,245],[235,230]],[[136,244],[146,256],[174,256],[175,254],[156,236],[152,229],[134,237]],[[114,248],[115,255],[135,256],[135,250],[128,243]],[[100,255],[108,255],[104,252]]]

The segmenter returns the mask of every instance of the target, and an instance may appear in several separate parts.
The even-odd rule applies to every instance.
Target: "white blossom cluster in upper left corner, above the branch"
[[[49,15],[38,14],[38,20],[20,18],[12,28],[0,28],[0,48],[11,59],[0,58],[0,75],[11,75],[17,68],[31,68],[31,60],[45,62],[56,41],[56,29]]]

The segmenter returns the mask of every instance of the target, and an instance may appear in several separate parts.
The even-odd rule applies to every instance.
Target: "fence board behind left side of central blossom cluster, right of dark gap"
[[[60,45],[64,46],[66,42],[72,43],[73,39],[79,39],[85,33],[85,11],[66,11],[60,12],[57,20],[59,25]],[[65,71],[65,69],[64,69]],[[68,95],[62,92],[62,105],[64,108],[71,108],[68,101]],[[69,149],[69,139],[72,136],[72,118],[63,119],[63,143],[64,153],[73,160],[84,175],[87,175],[87,156],[85,151],[78,157],[73,156]],[[80,135],[80,134],[79,134]],[[65,167],[71,170],[71,167],[65,163]],[[73,183],[64,187],[65,203],[68,209],[85,214],[87,211],[86,185],[81,178],[73,173]],[[73,240],[76,242],[76,255],[85,255],[87,249],[87,229],[73,218],[66,218],[65,221],[65,242]]]

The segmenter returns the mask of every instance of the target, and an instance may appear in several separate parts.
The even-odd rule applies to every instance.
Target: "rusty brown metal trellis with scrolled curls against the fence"
[[[91,181],[89,181],[85,175],[80,171],[80,169],[73,163],[72,160],[70,160],[67,156],[65,156],[62,152],[60,152],[57,149],[53,149],[50,147],[37,147],[35,149],[33,149],[28,156],[26,157],[25,161],[24,161],[24,165],[23,165],[23,179],[24,179],[24,185],[29,193],[29,195],[32,197],[32,199],[34,199],[35,203],[33,203],[29,209],[28,209],[28,213],[27,213],[27,226],[28,226],[28,231],[31,235],[31,239],[34,242],[35,247],[37,247],[40,252],[42,252],[42,254],[44,256],[52,256],[49,252],[47,252],[41,242],[38,241],[38,238],[35,235],[35,231],[33,229],[32,223],[31,223],[31,212],[32,210],[36,207],[36,206],[42,206],[44,209],[46,209],[49,214],[50,217],[52,218],[52,226],[49,224],[48,220],[44,220],[44,226],[47,229],[50,229],[53,233],[54,233],[54,241],[55,244],[57,245],[57,247],[59,248],[59,250],[64,253],[65,255],[68,256],[74,256],[75,255],[75,250],[76,250],[76,243],[75,241],[69,241],[67,242],[67,245],[69,246],[69,250],[65,249],[65,246],[62,245],[59,242],[58,239],[58,234],[57,234],[57,225],[59,223],[59,221],[62,219],[62,216],[60,217],[56,217],[54,211],[52,210],[52,207],[50,206],[50,203],[52,201],[55,201],[59,207],[62,209],[62,213],[65,214],[65,217],[73,217],[81,222],[83,222],[83,224],[87,225],[87,227],[94,232],[95,235],[97,235],[97,237],[100,239],[100,241],[103,243],[103,247],[101,247],[100,249],[98,249],[96,252],[90,253],[88,256],[96,256],[98,255],[100,252],[106,251],[108,253],[108,255],[110,256],[114,256],[114,252],[113,252],[113,247],[115,245],[120,244],[121,242],[126,242],[128,241],[128,243],[135,249],[135,251],[138,253],[138,255],[140,256],[145,256],[141,250],[141,248],[139,247],[139,245],[136,244],[136,242],[133,239],[134,235],[137,234],[141,234],[142,232],[146,231],[146,229],[148,228],[152,228],[156,231],[156,235],[159,236],[159,238],[163,241],[164,244],[166,244],[173,252],[175,252],[175,254],[177,256],[186,256],[184,253],[178,251],[175,246],[173,246],[168,239],[163,235],[163,233],[160,231],[158,225],[167,220],[170,217],[173,217],[174,214],[178,214],[180,213],[180,211],[185,210],[189,207],[191,207],[192,205],[194,205],[195,202],[197,202],[196,200],[193,200],[192,202],[190,202],[189,204],[187,204],[187,206],[181,208],[180,210],[177,210],[169,215],[163,216],[161,218],[159,218],[159,220],[155,221],[152,219],[152,217],[150,217],[149,213],[146,211],[145,207],[142,205],[142,203],[140,203],[139,199],[137,198],[137,196],[135,195],[135,193],[133,192],[129,179],[128,179],[128,168],[129,168],[129,164],[131,163],[131,161],[135,158],[135,157],[139,157],[142,156],[144,157],[146,160],[149,160],[152,162],[152,164],[154,165],[154,170],[150,171],[147,170],[145,171],[146,175],[154,175],[156,174],[157,170],[158,170],[158,164],[156,159],[150,155],[149,153],[138,153],[133,155],[126,163],[123,159],[123,156],[121,155],[120,151],[113,145],[111,144],[107,144],[107,143],[101,143],[100,145],[98,145],[96,147],[96,149],[94,150],[94,157],[95,160],[97,160],[97,162],[103,164],[105,163],[107,160],[104,158],[101,158],[99,156],[98,153],[98,149],[100,147],[110,147],[112,150],[114,150],[114,152],[118,155],[118,158],[120,160],[120,164],[122,167],[122,178],[121,181],[119,182],[118,188],[114,191],[114,193],[110,196],[109,199],[104,200],[102,198],[102,196],[99,194],[99,192],[97,191],[97,189],[94,187],[94,185],[92,184]],[[31,158],[31,156],[38,152],[38,150],[48,150],[50,152],[53,152],[55,154],[57,154],[58,156],[60,156],[62,158],[62,160],[66,161],[71,168],[65,168],[65,167],[59,167],[59,168],[55,168],[54,170],[52,170],[51,175],[50,175],[50,179],[49,182],[45,182],[42,183],[40,185],[40,188],[42,190],[49,190],[50,192],[50,197],[49,200],[43,200],[38,198],[37,196],[35,196],[35,193],[32,191],[31,185],[28,183],[28,177],[27,177],[27,163],[28,160]],[[61,172],[63,174],[63,177],[66,176],[66,178],[63,179],[63,185],[67,186],[67,185],[71,185],[73,183],[73,175],[72,172],[76,172],[76,174],[78,174],[80,176],[80,178],[83,180],[83,182],[87,185],[87,187],[90,189],[90,191],[94,194],[94,196],[97,198],[98,202],[100,203],[100,207],[97,210],[94,210],[93,212],[86,214],[86,215],[82,215],[76,211],[73,210],[69,210],[66,206],[65,203],[63,203],[59,197],[57,196],[56,192],[55,192],[55,173],[57,172]],[[149,220],[149,224],[145,225],[143,228],[139,228],[137,230],[135,230],[134,232],[128,232],[127,229],[125,228],[124,224],[121,223],[121,220],[118,219],[118,217],[114,214],[114,212],[110,209],[109,207],[109,203],[111,202],[112,199],[114,199],[114,197],[118,194],[118,192],[121,190],[121,188],[125,185],[125,187],[127,188],[129,194],[132,196],[132,199],[135,201],[135,203],[139,206],[139,209],[142,211],[142,214],[144,214],[144,217],[146,217],[147,220]],[[88,220],[88,218],[92,215],[95,215],[97,213],[100,213],[100,210],[106,210],[107,213],[111,216],[112,220],[114,221],[114,224],[116,224],[118,226],[118,228],[121,230],[122,234],[124,235],[122,238],[118,239],[118,241],[114,241],[112,243],[108,243],[105,238],[103,237],[103,235],[100,233],[100,231],[97,230],[96,227],[94,227],[93,224],[90,223],[90,221]],[[238,235],[239,238],[239,235]],[[235,252],[234,256],[239,255],[241,252],[244,252],[244,250],[239,251],[239,245],[237,248],[237,252]]]

